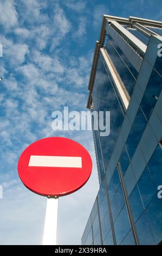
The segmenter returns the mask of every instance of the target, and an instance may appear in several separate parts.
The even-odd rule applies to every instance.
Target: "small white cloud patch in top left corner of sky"
[[[0,3],[0,24],[5,29],[10,29],[17,25],[17,12],[15,9],[14,1],[4,0]]]

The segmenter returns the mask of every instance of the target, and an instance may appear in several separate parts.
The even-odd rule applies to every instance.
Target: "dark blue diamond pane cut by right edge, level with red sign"
[[[160,145],[158,145],[158,147],[155,149],[147,165],[148,169],[150,170],[155,187],[162,185],[162,149]]]

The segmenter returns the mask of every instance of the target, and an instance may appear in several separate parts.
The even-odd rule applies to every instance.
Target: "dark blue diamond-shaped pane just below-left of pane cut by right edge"
[[[144,203],[144,206],[146,208],[147,205],[151,202],[151,200],[155,196],[155,194],[157,193],[157,190],[155,189],[155,186],[153,184],[151,175],[147,167],[145,168],[144,172],[140,176],[140,179],[138,181],[138,188],[142,198],[142,202]]]

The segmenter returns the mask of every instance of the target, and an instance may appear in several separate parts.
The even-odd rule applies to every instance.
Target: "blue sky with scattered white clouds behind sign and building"
[[[37,139],[66,136],[93,158],[93,174],[76,193],[60,198],[57,242],[79,244],[98,175],[91,131],[56,132],[51,113],[86,109],[87,86],[102,15],[162,20],[161,1],[4,0],[0,2],[0,244],[41,244],[46,198],[17,175],[22,151]]]

